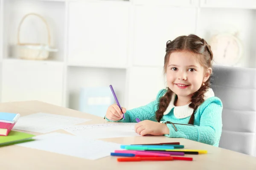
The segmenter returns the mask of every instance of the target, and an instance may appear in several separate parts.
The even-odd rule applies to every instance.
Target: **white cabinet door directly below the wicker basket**
[[[39,100],[62,105],[63,64],[4,60],[1,102]]]

